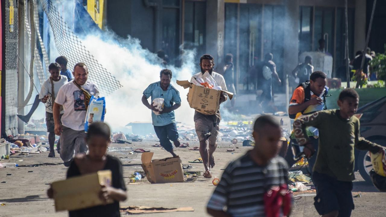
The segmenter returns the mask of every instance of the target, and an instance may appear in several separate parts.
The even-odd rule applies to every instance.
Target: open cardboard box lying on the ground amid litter
[[[142,168],[150,183],[183,182],[184,174],[179,157],[154,159],[152,152],[142,153]]]

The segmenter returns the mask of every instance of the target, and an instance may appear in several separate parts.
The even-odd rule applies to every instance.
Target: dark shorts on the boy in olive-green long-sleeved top
[[[319,215],[338,211],[339,217],[350,217],[354,209],[352,181],[339,181],[317,171],[313,171],[312,181],[317,191],[314,205]]]

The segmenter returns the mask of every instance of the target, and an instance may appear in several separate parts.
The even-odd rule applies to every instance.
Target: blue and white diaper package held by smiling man
[[[90,124],[94,122],[103,122],[105,120],[105,109],[105,97],[97,98],[95,96],[91,96],[90,105],[88,105],[86,113],[85,132],[87,132]]]

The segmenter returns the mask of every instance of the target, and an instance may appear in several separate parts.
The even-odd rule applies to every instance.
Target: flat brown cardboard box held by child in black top
[[[111,186],[111,170],[68,178],[51,184],[54,190],[55,210],[78,210],[104,204],[99,198],[100,185]],[[113,200],[107,201],[113,203]]]

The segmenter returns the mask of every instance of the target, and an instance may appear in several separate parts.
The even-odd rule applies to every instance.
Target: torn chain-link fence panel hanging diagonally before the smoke
[[[90,54],[81,40],[69,28],[51,0],[40,0],[40,2],[51,25],[56,48],[59,54],[66,56],[68,65],[74,66],[79,62],[86,63],[89,79],[96,83],[104,94],[110,94],[122,87],[119,81]]]

